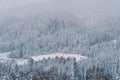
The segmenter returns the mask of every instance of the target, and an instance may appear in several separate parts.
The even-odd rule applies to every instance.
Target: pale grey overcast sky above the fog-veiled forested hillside
[[[67,11],[78,15],[120,14],[120,0],[0,0],[0,12],[36,4],[49,11]]]

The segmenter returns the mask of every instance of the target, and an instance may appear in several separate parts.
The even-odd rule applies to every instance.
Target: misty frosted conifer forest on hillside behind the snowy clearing
[[[21,22],[19,18],[8,19],[0,23],[0,53],[12,52],[16,57],[21,53],[20,57],[54,52],[88,55],[96,50],[94,46],[111,45],[110,41],[119,40],[120,30],[110,26],[114,22],[91,24],[89,20],[73,17],[36,15]]]

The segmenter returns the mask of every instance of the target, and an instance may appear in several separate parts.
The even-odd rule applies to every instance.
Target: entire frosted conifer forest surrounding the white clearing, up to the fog
[[[87,59],[44,59],[17,65],[0,63],[0,80],[120,80],[119,18],[29,16],[0,22],[0,53],[29,58],[55,52]]]

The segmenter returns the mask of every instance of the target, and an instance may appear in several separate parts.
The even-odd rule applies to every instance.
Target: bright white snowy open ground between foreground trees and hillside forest
[[[28,62],[27,59],[9,58],[8,57],[9,54],[10,54],[10,52],[0,54],[0,62],[6,62],[8,60],[15,60],[16,64],[18,64],[18,65],[24,65],[24,64],[27,64],[27,62]],[[67,59],[67,58],[76,58],[76,61],[80,61],[80,60],[83,60],[83,59],[87,58],[87,57],[82,56],[80,54],[66,54],[66,53],[45,54],[45,55],[31,56],[30,58],[32,58],[34,61],[40,61],[40,60],[48,59],[48,58],[53,59],[55,57],[59,57],[59,58],[63,57],[65,59]]]

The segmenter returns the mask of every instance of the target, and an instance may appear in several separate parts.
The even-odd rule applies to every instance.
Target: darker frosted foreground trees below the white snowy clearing
[[[17,65],[14,61],[0,63],[0,80],[119,80],[120,67],[115,60],[98,64],[92,59],[76,62],[75,58],[44,59]],[[110,61],[110,62],[109,62]]]

